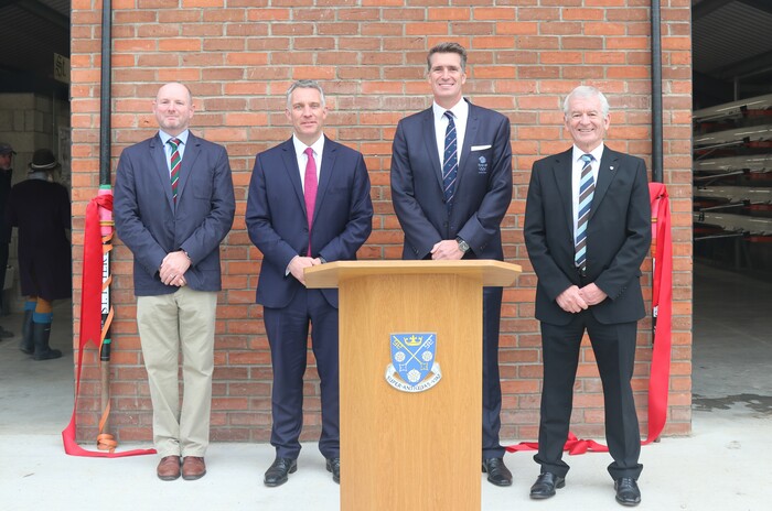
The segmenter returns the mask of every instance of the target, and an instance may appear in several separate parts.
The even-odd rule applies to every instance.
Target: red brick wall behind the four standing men
[[[512,121],[514,198],[504,219],[505,259],[522,264],[505,290],[501,363],[502,436],[533,439],[538,422],[540,350],[533,317],[536,279],[523,244],[534,160],[561,151],[562,97],[579,83],[600,87],[612,113],[608,143],[651,163],[648,0],[503,0],[493,6],[438,0],[114,0],[112,167],[121,150],[153,134],[151,100],[180,80],[194,94],[193,130],[224,144],[236,186],[236,221],[222,248],[212,437],[267,441],[271,369],[254,304],[260,253],[245,231],[254,155],[287,139],[283,94],[299,78],[322,81],[331,108],[325,132],[362,151],[373,183],[374,230],[364,259],[398,259],[401,232],[389,199],[390,144],[398,119],[430,105],[426,53],[452,40],[469,48],[467,95]],[[675,241],[674,348],[666,434],[690,431],[691,173],[690,1],[663,0],[665,183]],[[73,0],[72,124],[75,318],[79,314],[83,215],[98,186],[101,3]],[[651,263],[645,263],[651,270]],[[135,323],[131,254],[117,242],[112,351],[112,432],[149,441],[151,406]],[[647,301],[651,279],[644,276]],[[641,322],[634,389],[646,425],[651,320]],[[76,339],[77,340],[77,339]],[[82,439],[95,436],[99,370],[85,356]],[[572,430],[600,437],[602,395],[591,350],[577,381]],[[319,435],[319,383],[309,369],[304,439]]]

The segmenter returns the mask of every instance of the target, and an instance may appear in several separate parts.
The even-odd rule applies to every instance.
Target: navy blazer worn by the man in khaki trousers
[[[135,294],[173,293],[159,276],[163,258],[184,250],[187,285],[219,291],[219,243],[233,226],[236,202],[225,148],[190,133],[182,157],[176,204],[167,153],[157,133],[126,148],[116,171],[116,231],[135,256]]]

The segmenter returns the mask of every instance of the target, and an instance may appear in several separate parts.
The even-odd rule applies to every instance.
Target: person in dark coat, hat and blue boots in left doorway
[[[11,188],[6,221],[19,229],[19,282],[26,296],[19,348],[34,360],[60,358],[49,346],[54,300],[73,296],[69,194],[54,183],[60,167],[50,149],[32,155],[30,174]]]

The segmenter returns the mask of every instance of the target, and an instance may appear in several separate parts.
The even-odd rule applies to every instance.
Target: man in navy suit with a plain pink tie
[[[355,260],[372,230],[369,176],[361,153],[324,137],[324,93],[300,80],[287,91],[293,134],[255,159],[246,224],[262,252],[257,303],[274,367],[271,445],[276,459],[265,485],[297,470],[303,425],[303,374],[309,324],[321,380],[319,450],[335,482],[341,478],[337,371],[337,290],[309,290],[304,270]]]

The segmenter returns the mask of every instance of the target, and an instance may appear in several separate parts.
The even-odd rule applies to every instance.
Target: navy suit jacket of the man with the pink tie
[[[246,214],[249,239],[262,252],[257,303],[287,306],[303,285],[287,273],[296,256],[309,246],[305,199],[292,139],[255,159]],[[311,254],[326,262],[355,260],[373,229],[369,176],[362,154],[324,139],[317,203],[311,230]],[[322,290],[337,307],[337,290]]]

